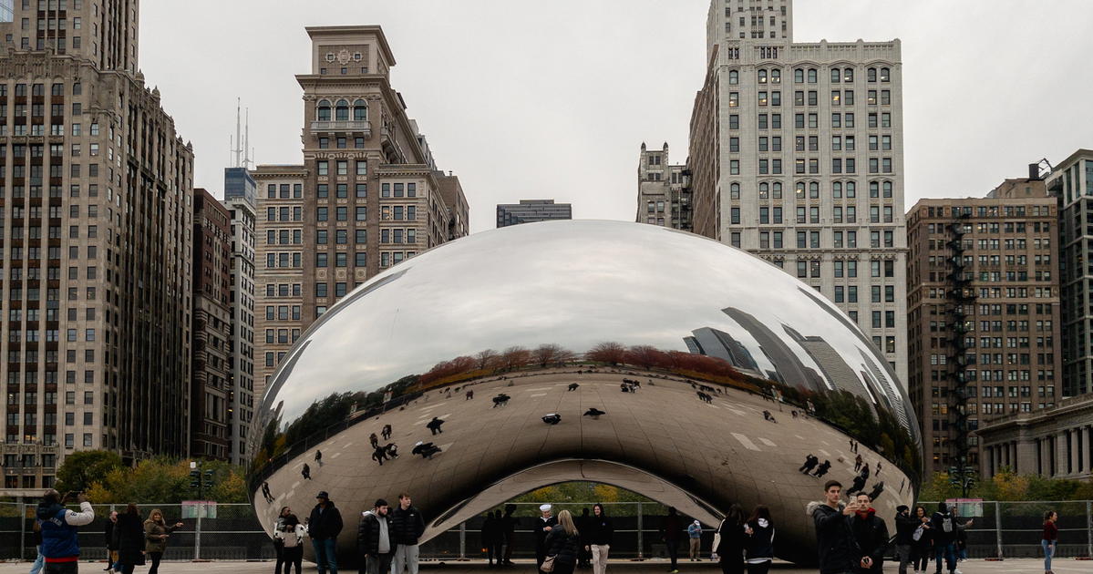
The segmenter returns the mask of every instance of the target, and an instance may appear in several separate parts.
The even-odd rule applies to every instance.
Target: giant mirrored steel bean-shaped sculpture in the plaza
[[[378,464],[373,434],[401,456]],[[590,480],[708,526],[732,503],[766,504],[775,553],[812,562],[804,506],[825,480],[849,489],[860,454],[894,532],[921,457],[900,383],[826,298],[720,243],[607,221],[489,231],[376,276],[282,360],[249,437],[266,528],[328,491],[346,557],[350,525],[377,497],[412,493],[428,539],[529,490]],[[418,442],[439,452],[411,455]],[[824,477],[800,470],[809,455]]]

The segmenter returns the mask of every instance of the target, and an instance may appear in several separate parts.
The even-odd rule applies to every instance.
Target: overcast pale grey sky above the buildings
[[[903,42],[906,207],[978,196],[1093,148],[1093,2],[797,0],[795,40]],[[299,163],[304,26],[379,24],[407,101],[471,229],[494,206],[634,220],[643,141],[686,157],[708,0],[146,0],[140,62],[223,195],[235,98],[258,163]]]

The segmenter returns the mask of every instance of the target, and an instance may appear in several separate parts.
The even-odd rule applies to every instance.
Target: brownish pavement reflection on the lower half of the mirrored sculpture
[[[642,388],[622,393],[619,385],[624,377],[640,380]],[[580,387],[568,391],[571,383]],[[453,388],[450,396],[431,390],[402,410],[357,423],[326,441],[318,447],[321,467],[314,460],[314,448],[287,462],[269,479],[273,503],[256,493],[262,524],[268,528],[277,508],[285,504],[303,518],[319,490],[330,492],[346,525],[355,524],[359,513],[377,497],[393,504],[399,492],[408,491],[427,524],[517,470],[549,460],[600,458],[673,480],[721,511],[730,502],[740,502],[745,509],[766,504],[784,543],[811,549],[814,540],[804,516],[806,503],[822,497],[823,481],[839,480],[845,490],[855,476],[854,454],[838,430],[803,415],[795,419],[792,407],[742,390],[715,387],[722,391],[713,391],[713,402],[706,403],[682,379],[650,379],[632,371],[579,375],[541,371],[505,380],[491,378],[463,386],[459,393],[456,387],[447,387]],[[465,399],[468,388],[474,391],[472,400]],[[492,397],[502,391],[512,399],[506,407],[493,408]],[[583,417],[591,407],[607,414],[598,420]],[[764,420],[764,410],[777,422]],[[551,412],[562,415],[560,424],[542,422],[541,417]],[[431,435],[425,427],[433,417],[445,421],[442,434]],[[384,424],[392,426],[391,442],[398,445],[400,457],[379,466],[371,458],[368,435],[378,435]],[[431,460],[411,456],[418,441],[434,442],[443,453]],[[831,460],[826,477],[816,479],[797,470],[809,453],[821,462]],[[874,453],[861,446],[860,454],[875,468],[879,457]],[[305,462],[310,465],[313,480],[301,477]],[[681,484],[681,477],[692,487]],[[895,506],[909,504],[910,488],[888,460],[879,479],[886,485],[874,507],[894,532]],[[877,480],[870,477],[867,490]],[[342,544],[350,544],[354,537],[355,529],[346,528]]]

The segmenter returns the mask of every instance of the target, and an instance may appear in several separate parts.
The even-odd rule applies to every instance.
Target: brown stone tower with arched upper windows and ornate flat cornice
[[[466,235],[458,177],[436,166],[390,85],[379,26],[308,27],[304,163],[259,165],[256,398],[316,318],[368,278]]]

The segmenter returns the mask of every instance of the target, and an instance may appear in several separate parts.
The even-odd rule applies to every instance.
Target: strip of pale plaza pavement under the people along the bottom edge
[[[80,564],[80,572],[83,574],[98,574],[103,572],[101,563],[84,562]],[[513,573],[531,574],[534,564],[530,562],[517,563],[515,567],[505,570],[494,570],[485,567],[482,562],[423,562],[423,571],[445,573],[445,574],[486,574],[486,573]],[[1036,574],[1043,571],[1044,562],[1041,560],[1007,560],[1003,562],[987,562],[985,560],[971,560],[961,564],[964,574]],[[0,574],[24,574],[28,572],[30,563],[0,563]],[[661,574],[668,570],[668,563],[663,560],[645,562],[609,562],[608,572],[610,574]],[[1058,574],[1089,574],[1093,572],[1093,562],[1078,561],[1073,559],[1056,559],[1051,564],[1051,570]],[[895,564],[886,562],[884,571],[895,574]],[[138,574],[144,574],[144,567],[137,570]],[[164,562],[160,565],[163,574],[270,574],[273,572],[272,562]],[[304,563],[304,572],[316,572],[315,564]],[[343,571],[352,574],[355,569]],[[590,574],[591,570],[578,570],[577,572]],[[681,574],[720,574],[720,569],[712,562],[680,562]],[[772,572],[777,574],[815,574],[814,569],[799,569],[792,564],[775,564]]]

